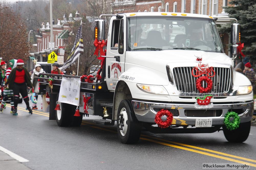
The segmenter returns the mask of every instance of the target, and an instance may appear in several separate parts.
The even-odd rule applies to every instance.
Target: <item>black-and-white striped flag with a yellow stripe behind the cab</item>
[[[76,36],[74,46],[71,50],[70,55],[68,56],[68,59],[66,60],[64,65],[61,67],[61,71],[70,67],[71,64],[75,62],[81,54],[83,54],[82,25],[79,27],[77,31],[77,36]]]

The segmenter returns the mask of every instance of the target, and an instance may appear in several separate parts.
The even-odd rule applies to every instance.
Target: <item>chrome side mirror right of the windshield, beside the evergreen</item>
[[[238,44],[240,43],[240,24],[233,23],[231,25],[231,36],[230,36],[230,42],[231,42],[231,47],[230,47],[230,54],[232,55],[231,58],[235,59],[237,55],[239,54],[238,51]]]

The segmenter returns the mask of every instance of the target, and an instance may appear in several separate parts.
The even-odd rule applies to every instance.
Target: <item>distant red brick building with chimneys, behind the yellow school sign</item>
[[[64,14],[63,20],[58,18],[57,24],[53,21],[53,42],[55,42],[55,51],[57,51],[59,46],[65,47],[69,41],[69,36],[72,35],[71,27],[76,21],[80,21],[82,18],[79,17],[79,13],[76,12],[76,16],[73,18],[72,14],[69,14],[68,20],[67,16]],[[38,62],[47,62],[47,56],[51,52],[48,48],[48,42],[50,42],[50,24],[49,22],[43,22],[42,27],[37,29],[37,43],[33,44],[36,48],[36,52],[30,53],[31,58],[35,58]],[[27,62],[28,69],[34,69],[33,59],[29,59]]]

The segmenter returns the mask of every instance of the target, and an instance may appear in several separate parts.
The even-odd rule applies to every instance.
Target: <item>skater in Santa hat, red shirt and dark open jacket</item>
[[[22,95],[24,102],[26,103],[27,110],[29,111],[29,114],[32,115],[32,109],[29,106],[29,97],[27,92],[27,86],[28,88],[32,88],[33,85],[31,83],[31,78],[29,75],[28,70],[26,67],[23,66],[24,61],[22,59],[17,60],[17,67],[15,67],[8,79],[5,83],[6,85],[9,85],[10,89],[13,89],[13,100],[14,100],[14,110],[13,115],[17,115],[17,106],[19,102],[19,94]]]

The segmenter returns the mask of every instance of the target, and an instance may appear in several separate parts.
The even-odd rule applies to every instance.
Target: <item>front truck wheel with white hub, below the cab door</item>
[[[123,116],[120,115],[121,113],[123,113]],[[137,143],[140,139],[142,123],[135,117],[131,101],[122,100],[119,104],[117,114],[117,133],[120,142],[125,144]],[[127,115],[127,118],[124,114]],[[120,130],[121,125],[119,124],[119,119],[121,120],[121,124],[123,124],[123,130]],[[123,121],[122,119],[127,120]]]

